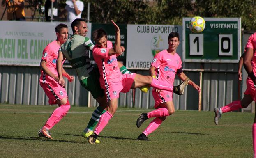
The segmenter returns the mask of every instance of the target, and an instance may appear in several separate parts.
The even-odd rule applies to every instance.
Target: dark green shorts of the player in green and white
[[[80,84],[91,92],[93,98],[98,98],[104,96],[104,89],[100,87],[99,84],[99,69],[94,67],[89,73],[89,77],[80,80]]]

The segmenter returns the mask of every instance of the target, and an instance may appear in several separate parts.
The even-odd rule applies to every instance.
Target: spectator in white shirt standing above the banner
[[[80,0],[67,0],[65,9],[67,10],[67,21],[72,22],[76,18],[81,18],[83,2]]]

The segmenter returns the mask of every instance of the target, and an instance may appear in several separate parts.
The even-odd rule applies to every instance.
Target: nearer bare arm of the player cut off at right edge
[[[254,72],[252,71],[252,66],[251,66],[251,59],[253,57],[253,49],[252,48],[246,48],[246,51],[244,53],[244,69],[250,76],[251,80],[254,82],[255,85],[255,80],[256,77],[254,75]]]

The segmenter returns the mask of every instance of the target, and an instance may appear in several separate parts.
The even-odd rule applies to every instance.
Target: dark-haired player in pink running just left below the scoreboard
[[[168,44],[169,48],[167,50],[163,50],[155,55],[150,66],[150,75],[154,76],[159,81],[168,82],[173,85],[175,75],[177,74],[181,80],[188,82],[188,84],[192,85],[198,92],[200,92],[200,87],[189,80],[189,78],[182,72],[182,62],[179,55],[176,53],[177,47],[180,44],[178,32],[171,32],[169,34]],[[139,128],[148,118],[155,117],[155,119],[153,119],[143,133],[138,136],[138,140],[148,141],[147,136],[155,131],[167,116],[175,112],[172,92],[153,89],[152,95],[155,99],[156,110],[142,113],[137,119],[136,125]]]

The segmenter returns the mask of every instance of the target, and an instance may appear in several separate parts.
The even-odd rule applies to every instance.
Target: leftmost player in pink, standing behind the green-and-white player
[[[69,111],[70,104],[64,87],[58,83],[58,72],[56,62],[60,45],[67,41],[68,29],[67,25],[59,24],[55,27],[57,39],[46,46],[40,62],[41,77],[39,79],[40,86],[49,98],[49,104],[58,104],[51,116],[48,118],[44,126],[39,130],[39,137],[53,139],[49,134],[49,130],[55,126]],[[64,62],[62,62],[63,64]],[[74,80],[63,68],[62,73],[70,82]]]

